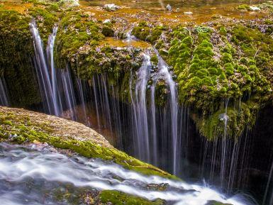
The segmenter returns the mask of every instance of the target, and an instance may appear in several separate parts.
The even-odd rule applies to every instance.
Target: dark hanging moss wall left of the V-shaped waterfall
[[[13,106],[40,102],[29,22],[28,16],[17,11],[0,9],[0,75],[6,80]]]

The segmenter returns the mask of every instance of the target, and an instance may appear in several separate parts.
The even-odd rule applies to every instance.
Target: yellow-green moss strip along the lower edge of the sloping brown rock
[[[9,140],[15,143],[33,141],[48,143],[55,148],[72,150],[84,157],[111,160],[128,170],[135,170],[141,174],[159,175],[161,177],[177,179],[177,177],[174,177],[157,167],[130,157],[126,153],[116,150],[115,148],[107,148],[88,140],[74,140],[74,138],[69,136],[61,138],[52,132],[49,124],[33,122],[31,121],[31,118],[28,119],[24,116],[16,115],[16,113],[0,113],[0,124],[1,138],[9,138]]]

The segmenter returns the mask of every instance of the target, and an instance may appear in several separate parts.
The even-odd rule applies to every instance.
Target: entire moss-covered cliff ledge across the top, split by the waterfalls
[[[104,23],[103,14],[107,12],[99,14],[95,8],[91,9],[93,13],[80,7],[63,8],[56,2],[28,2],[32,2],[32,8],[23,13],[0,7],[0,74],[8,84],[12,106],[26,108],[41,103],[31,62],[31,18],[35,18],[44,44],[53,26],[59,26],[55,42],[57,68],[69,64],[77,77],[86,80],[94,74],[105,74],[109,85],[118,87],[119,98],[130,103],[130,72],[138,70],[146,48],[109,44],[108,38],[114,33],[125,32],[122,16],[112,16]],[[271,3],[260,7],[272,13]],[[228,101],[228,136],[238,138],[255,123],[262,106],[273,99],[272,16],[253,21],[214,19],[186,27],[152,18],[154,21],[147,22],[143,16],[138,18],[132,34],[155,45],[170,65],[178,84],[179,101],[191,108],[201,135],[214,140],[223,134],[221,115],[225,112],[223,102]],[[157,57],[152,56],[151,60],[156,65]],[[165,84],[160,83],[156,97],[159,105],[164,104],[167,94]]]

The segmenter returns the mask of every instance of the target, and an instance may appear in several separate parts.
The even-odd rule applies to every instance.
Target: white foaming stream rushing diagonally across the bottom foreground
[[[206,186],[144,176],[124,170],[113,162],[56,153],[46,145],[0,143],[1,204],[72,204],[84,193],[118,190],[145,199],[164,199],[172,204],[205,205],[220,201],[233,205],[250,204],[243,197],[231,198]],[[168,184],[164,191],[149,190],[149,184]],[[56,197],[69,195],[60,200]]]

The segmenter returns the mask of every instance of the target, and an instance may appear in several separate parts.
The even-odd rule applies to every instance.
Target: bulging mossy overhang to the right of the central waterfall
[[[224,134],[236,139],[273,99],[268,23],[268,18],[227,18],[174,28],[140,22],[133,34],[155,45],[166,60],[178,84],[179,101],[191,108],[199,133],[207,140]]]

